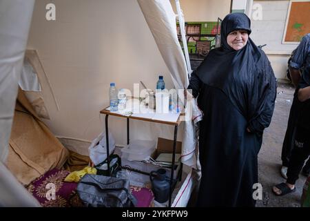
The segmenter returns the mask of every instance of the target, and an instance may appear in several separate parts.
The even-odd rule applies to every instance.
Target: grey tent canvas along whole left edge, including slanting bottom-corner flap
[[[34,0],[0,1],[0,206],[40,206],[3,164],[33,8]]]

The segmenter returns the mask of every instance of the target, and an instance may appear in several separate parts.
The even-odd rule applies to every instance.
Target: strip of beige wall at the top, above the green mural
[[[175,9],[175,0],[170,0]],[[180,0],[185,21],[217,21],[230,10],[230,0]]]

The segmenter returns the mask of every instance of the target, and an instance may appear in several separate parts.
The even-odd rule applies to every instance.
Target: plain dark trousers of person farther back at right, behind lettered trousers
[[[300,102],[298,101],[297,94],[294,94],[293,104],[291,104],[291,110],[289,111],[289,121],[287,122],[287,132],[285,133],[285,140],[282,146],[282,166],[289,166],[289,160],[291,158],[291,152],[295,146],[296,135],[296,122],[298,119],[298,113],[300,112]],[[304,172],[310,172],[310,159],[304,165]]]

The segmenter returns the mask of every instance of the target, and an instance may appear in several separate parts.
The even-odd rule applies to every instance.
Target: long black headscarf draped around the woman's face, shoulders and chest
[[[227,35],[230,32],[247,30],[250,34],[250,26],[251,21],[244,13],[227,15],[220,28],[221,47],[209,52],[197,68],[196,75],[204,84],[223,90],[247,119],[249,127],[262,131],[269,126],[268,118],[271,119],[276,99],[276,79],[270,62],[250,37],[240,50],[234,50],[227,44]],[[272,110],[268,112],[265,111],[266,108]],[[271,116],[260,122],[255,121],[265,113]]]

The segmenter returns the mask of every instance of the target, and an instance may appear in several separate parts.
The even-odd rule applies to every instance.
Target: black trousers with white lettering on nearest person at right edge
[[[298,180],[304,161],[310,155],[310,131],[298,126],[294,144],[289,160],[289,168],[287,169],[287,182],[289,184],[295,184],[296,180]]]

